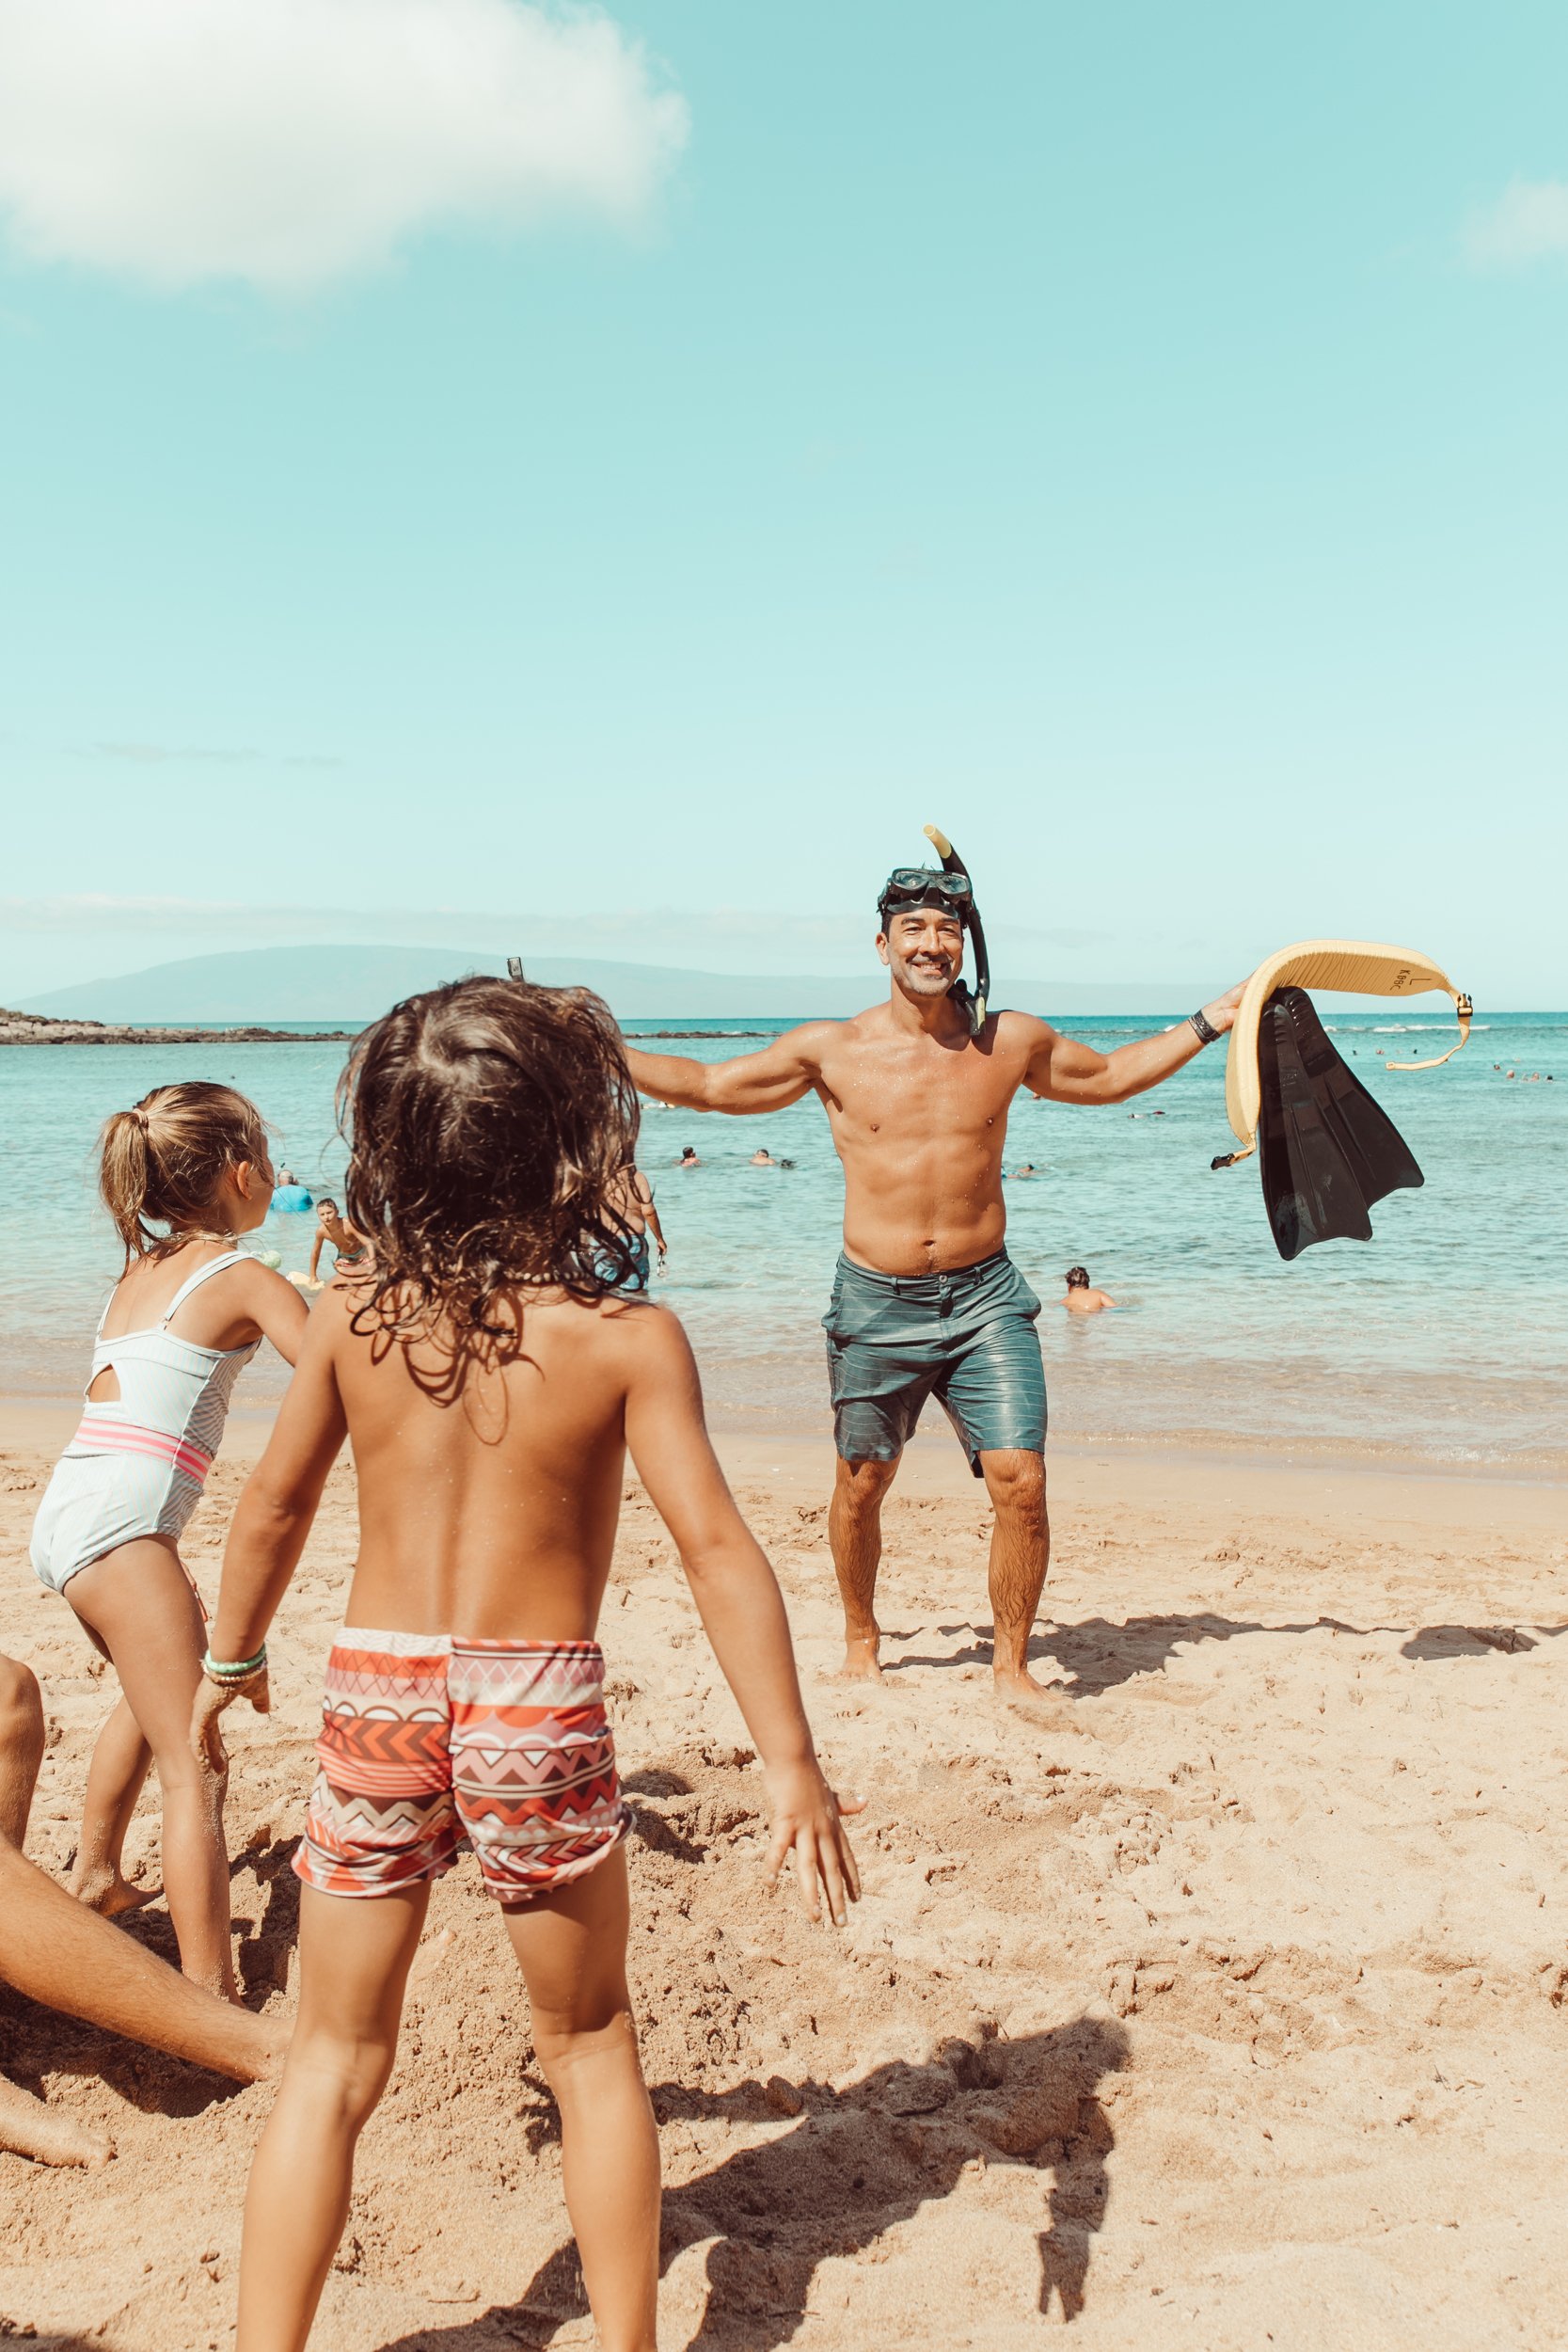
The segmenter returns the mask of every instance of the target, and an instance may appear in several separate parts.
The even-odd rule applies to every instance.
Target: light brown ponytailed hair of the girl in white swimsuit
[[[158,1258],[200,1230],[223,1176],[242,1162],[266,1162],[266,1120],[233,1087],[153,1087],[134,1110],[110,1112],[99,1136],[99,1192],[125,1263]]]

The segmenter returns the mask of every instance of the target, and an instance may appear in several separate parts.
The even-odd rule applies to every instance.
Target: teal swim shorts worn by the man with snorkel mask
[[[898,1461],[936,1397],[980,1477],[980,1454],[1046,1449],[1039,1298],[1006,1249],[950,1275],[877,1275],[839,1258],[823,1315],[839,1454]]]

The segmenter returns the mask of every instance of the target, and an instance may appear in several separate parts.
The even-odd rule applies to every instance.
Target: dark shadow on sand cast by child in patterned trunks
[[[1100,2084],[1126,2063],[1114,2023],[1077,2018],[1018,2042],[945,2042],[929,2065],[893,2060],[846,2091],[825,2084],[738,2084],[701,2098],[654,2089],[661,2122],[736,2124],[795,2117],[696,2180],[665,2190],[661,2267],[708,2249],[708,2307],[691,2345],[773,2352],[806,2317],[825,2260],[863,2253],[924,2204],[950,2197],[966,2166],[1039,2173],[1039,2310],[1084,2310],[1093,2237],[1105,2220],[1114,2145]],[[548,2126],[543,2126],[548,2129]],[[484,2352],[548,2345],[588,2314],[576,2246],[564,2244],[512,2305],[458,2326],[418,2328],[383,2352]]]

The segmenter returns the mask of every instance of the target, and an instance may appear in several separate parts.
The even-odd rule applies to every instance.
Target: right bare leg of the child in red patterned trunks
[[[602,2352],[656,2352],[658,2131],[625,1990],[625,1846],[505,1926],[562,2112],[567,2213]]]

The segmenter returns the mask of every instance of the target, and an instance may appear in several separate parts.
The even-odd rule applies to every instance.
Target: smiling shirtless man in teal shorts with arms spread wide
[[[997,1510],[992,1672],[1011,1705],[1051,1712],[1027,1670],[1046,1583],[1046,1374],[1039,1298],[1011,1263],[1001,1150],[1020,1087],[1053,1103],[1124,1103],[1234,1021],[1241,988],[1161,1037],[1098,1054],[1032,1014],[971,1030],[961,873],[900,868],[882,891],[884,1004],[804,1028],[738,1061],[644,1054],[637,1087],[682,1110],[783,1110],[816,1094],[844,1162],[844,1256],[823,1317],[839,1449],[827,1529],[844,1602],[844,1672],[879,1679],[882,1498],[926,1397],[952,1421]]]

